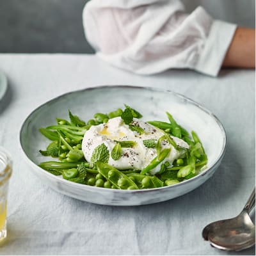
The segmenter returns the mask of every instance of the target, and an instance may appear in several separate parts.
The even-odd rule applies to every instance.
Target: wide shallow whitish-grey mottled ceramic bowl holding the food
[[[47,147],[49,140],[38,131],[56,122],[56,117],[68,118],[68,109],[89,120],[97,112],[108,113],[124,104],[142,113],[143,120],[166,119],[165,111],[189,132],[194,130],[202,140],[209,157],[207,168],[196,177],[163,188],[118,190],[77,184],[46,172],[37,164],[47,161],[38,150]],[[31,143],[36,141],[36,143]],[[163,202],[184,195],[209,179],[221,163],[225,152],[226,135],[220,121],[210,111],[193,100],[177,93],[145,87],[101,86],[70,92],[46,102],[26,118],[20,129],[20,145],[31,172],[52,189],[79,200],[103,205],[143,205]]]

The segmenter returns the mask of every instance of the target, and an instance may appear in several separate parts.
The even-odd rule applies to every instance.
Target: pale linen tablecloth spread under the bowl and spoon
[[[255,254],[255,248],[217,250],[201,235],[211,221],[239,214],[255,186],[253,70],[223,70],[217,78],[189,70],[138,76],[86,54],[0,54],[0,69],[9,81],[0,102],[0,145],[13,158],[8,239],[1,255]],[[166,88],[211,110],[227,132],[227,151],[214,176],[184,196],[137,207],[89,204],[43,184],[28,170],[20,151],[22,122],[47,100],[101,84]]]

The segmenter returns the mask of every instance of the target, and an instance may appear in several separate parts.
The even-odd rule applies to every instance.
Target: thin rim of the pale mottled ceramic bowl
[[[204,111],[205,113],[207,113],[208,115],[210,115],[215,122],[218,124],[218,126],[220,127],[221,133],[223,135],[223,144],[222,144],[222,148],[220,151],[220,154],[218,155],[218,157],[216,157],[216,160],[214,161],[214,163],[212,163],[211,167],[206,168],[205,170],[203,170],[202,172],[198,173],[198,175],[196,175],[195,177],[192,177],[191,179],[188,180],[183,180],[182,182],[179,182],[177,184],[173,184],[172,186],[164,186],[161,188],[150,188],[150,189],[111,189],[111,188],[100,188],[100,187],[95,187],[95,186],[88,186],[86,184],[79,184],[76,182],[72,182],[69,180],[65,180],[63,178],[61,178],[60,176],[56,176],[53,175],[52,173],[49,173],[47,171],[45,171],[43,168],[40,168],[40,166],[38,166],[37,164],[35,164],[26,154],[23,146],[22,146],[22,139],[21,139],[21,134],[22,134],[22,130],[24,128],[24,125],[28,122],[28,119],[31,115],[33,115],[33,113],[35,113],[36,111],[38,111],[38,109],[44,107],[45,105],[49,104],[52,101],[57,101],[58,99],[60,99],[61,97],[65,97],[67,95],[70,95],[72,93],[79,93],[79,92],[88,92],[88,91],[92,91],[92,90],[100,90],[100,89],[108,89],[108,88],[129,88],[129,89],[134,89],[134,90],[148,90],[151,92],[162,92],[162,93],[171,93],[173,95],[175,95],[176,97],[179,97],[181,99],[186,100],[187,102],[189,102],[189,104],[192,104],[198,108],[200,108],[202,111]],[[227,134],[226,131],[223,127],[223,125],[221,124],[220,120],[218,119],[218,117],[216,115],[214,115],[211,111],[209,111],[209,109],[205,108],[204,106],[200,105],[198,102],[195,102],[195,100],[190,99],[189,97],[186,97],[185,95],[182,95],[181,93],[177,93],[177,92],[173,92],[172,90],[168,90],[168,89],[164,89],[164,88],[155,88],[155,87],[149,87],[149,86],[133,86],[133,85],[119,85],[119,84],[115,84],[115,85],[95,85],[95,86],[90,86],[88,88],[83,88],[81,90],[74,90],[71,92],[67,92],[67,93],[63,93],[57,97],[54,97],[53,99],[47,100],[44,104],[40,104],[40,106],[38,106],[37,108],[35,108],[31,113],[29,113],[29,115],[26,117],[26,119],[24,120],[24,122],[22,123],[22,125],[20,126],[20,130],[19,130],[19,146],[22,149],[22,152],[25,156],[26,161],[28,161],[29,164],[32,164],[39,172],[41,172],[43,175],[49,175],[49,179],[54,179],[56,181],[59,181],[65,185],[68,186],[74,186],[77,189],[83,189],[84,191],[86,191],[87,189],[95,189],[95,191],[111,191],[111,192],[115,192],[115,193],[145,193],[148,192],[150,193],[150,191],[164,191],[166,189],[171,189],[171,188],[178,188],[180,186],[184,186],[186,184],[189,184],[191,182],[194,182],[195,180],[200,179],[201,177],[203,177],[204,175],[206,175],[207,173],[211,173],[211,171],[214,169],[214,166],[216,166],[216,164],[218,165],[218,163],[220,163],[220,161],[222,160],[224,154],[225,154],[225,150],[226,150],[226,146],[227,146]]]

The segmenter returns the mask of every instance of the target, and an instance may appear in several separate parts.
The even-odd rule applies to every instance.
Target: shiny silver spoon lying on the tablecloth
[[[222,250],[241,251],[255,244],[255,225],[249,213],[255,206],[255,189],[243,211],[236,218],[215,221],[207,225],[202,236],[212,246]]]

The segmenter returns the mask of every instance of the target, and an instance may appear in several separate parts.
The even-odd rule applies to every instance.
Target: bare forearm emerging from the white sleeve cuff
[[[255,68],[255,29],[237,28],[223,67]]]

